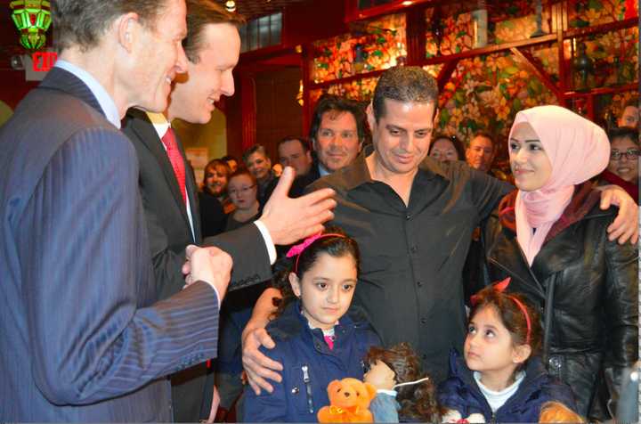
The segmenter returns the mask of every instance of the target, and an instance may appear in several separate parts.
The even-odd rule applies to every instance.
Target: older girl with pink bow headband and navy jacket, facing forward
[[[363,357],[380,339],[365,315],[350,307],[356,288],[359,250],[340,230],[328,229],[290,249],[290,271],[280,284],[277,318],[267,325],[276,343],[264,355],[282,363],[282,381],[256,395],[246,387],[246,422],[317,422],[329,404],[334,379],[363,379]]]

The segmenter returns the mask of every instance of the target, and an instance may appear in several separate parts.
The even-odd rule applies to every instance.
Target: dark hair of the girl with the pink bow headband
[[[316,263],[321,253],[327,253],[330,257],[345,257],[349,255],[353,257],[356,269],[359,268],[361,254],[358,244],[353,238],[345,234],[342,229],[332,226],[327,227],[323,234],[341,234],[341,236],[321,237],[307,246],[301,252],[300,257],[286,257],[280,261],[279,267],[281,269],[284,267],[284,269],[277,274],[274,280],[274,287],[280,289],[282,299],[273,299],[273,305],[278,306],[278,310],[272,315],[273,317],[280,315],[285,307],[296,299],[296,295],[294,295],[294,291],[289,284],[289,273],[296,273],[298,279],[302,280],[304,273]],[[298,259],[297,267],[296,258]]]

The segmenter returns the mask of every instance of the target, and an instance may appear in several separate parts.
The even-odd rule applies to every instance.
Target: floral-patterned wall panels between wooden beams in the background
[[[542,29],[551,29],[550,6],[543,2]],[[537,28],[534,2],[515,0],[503,6],[491,4],[488,15],[488,45],[529,39]],[[568,2],[567,27],[580,29],[637,16],[636,0],[571,0]],[[442,18],[440,18],[442,17]],[[437,19],[440,18],[440,19]],[[335,37],[314,45],[312,78],[315,82],[332,81],[340,77],[358,75],[371,70],[394,66],[406,56],[406,36],[402,14],[390,15],[369,22],[369,33]],[[444,54],[455,54],[475,48],[475,13],[465,4],[455,2],[442,5],[440,11],[426,10],[426,59]],[[637,80],[638,28],[617,29],[607,33],[564,40],[564,58],[572,61],[577,45],[586,45],[586,53],[594,65],[588,86],[621,86]],[[436,37],[436,35],[439,37]],[[354,67],[354,46],[365,54],[365,63]],[[555,43],[526,48],[552,82],[559,81],[558,46]],[[359,52],[359,54],[361,54]],[[401,59],[399,59],[401,58]],[[434,77],[442,64],[424,67]],[[572,89],[573,77],[566,76]],[[311,102],[322,93],[345,95],[367,102],[373,94],[377,77],[351,79],[347,82],[317,88],[311,91]],[[605,112],[615,115],[621,105],[635,99],[635,91],[603,94],[596,97],[595,118],[601,124]],[[568,106],[585,112],[582,98],[572,99]],[[483,130],[496,136],[499,143],[507,144],[507,134],[518,110],[541,104],[558,104],[556,95],[543,84],[513,53],[491,53],[458,61],[449,81],[440,94],[440,116],[436,132],[457,135],[468,142],[476,131]],[[507,159],[507,147],[499,148],[499,164]]]

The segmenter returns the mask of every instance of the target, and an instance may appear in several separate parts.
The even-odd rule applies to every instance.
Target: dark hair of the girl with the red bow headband
[[[512,337],[514,346],[525,345],[527,340],[527,320],[523,314],[523,310],[518,306],[514,299],[517,299],[530,317],[530,342],[527,343],[531,347],[531,355],[539,355],[541,348],[541,339],[543,329],[540,324],[540,315],[530,306],[529,302],[518,293],[504,293],[494,288],[494,286],[486,287],[479,291],[473,299],[474,305],[469,314],[469,320],[475,317],[485,307],[490,306],[499,315],[501,323],[509,331]],[[517,367],[517,371],[524,368],[527,361]]]

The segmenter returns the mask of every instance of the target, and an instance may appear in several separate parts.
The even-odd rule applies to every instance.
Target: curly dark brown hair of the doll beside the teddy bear
[[[369,347],[365,363],[385,363],[396,374],[397,383],[416,381],[426,377],[421,371],[418,355],[407,343],[399,343],[388,349]],[[442,408],[436,402],[434,382],[432,379],[418,384],[396,388],[396,400],[401,404],[399,415],[406,420],[421,422],[441,422]]]

